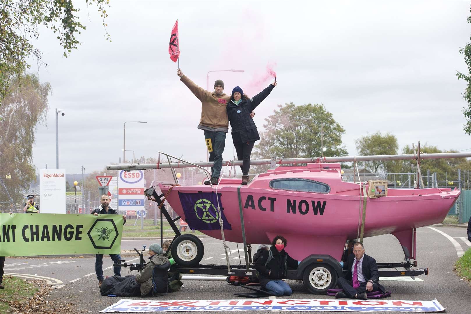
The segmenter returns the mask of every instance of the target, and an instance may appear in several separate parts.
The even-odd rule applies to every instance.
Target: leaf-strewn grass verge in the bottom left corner
[[[4,276],[2,285],[5,289],[0,290],[0,313],[11,312],[9,302],[23,303],[39,291],[36,282],[13,276]]]

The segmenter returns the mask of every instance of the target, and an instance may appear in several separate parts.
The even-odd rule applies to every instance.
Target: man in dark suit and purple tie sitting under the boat
[[[360,242],[353,245],[353,254],[350,254],[348,262],[343,264],[343,270],[347,271],[347,274],[344,278],[337,279],[337,285],[343,291],[337,292],[335,298],[366,300],[366,291],[385,292],[384,287],[378,283],[376,260],[365,254],[365,248]]]

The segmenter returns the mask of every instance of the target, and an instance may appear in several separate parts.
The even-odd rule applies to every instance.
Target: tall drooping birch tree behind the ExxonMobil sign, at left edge
[[[0,115],[4,118],[0,122],[0,176],[16,203],[23,200],[23,191],[36,179],[32,165],[34,133],[38,123],[46,121],[51,91],[49,83],[41,84],[33,74],[21,77],[21,88],[18,81],[14,80],[16,83],[0,107]],[[8,199],[1,186],[0,200]]]

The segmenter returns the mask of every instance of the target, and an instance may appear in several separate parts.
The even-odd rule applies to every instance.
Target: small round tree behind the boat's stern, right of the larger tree
[[[377,131],[371,135],[365,135],[358,138],[355,143],[357,144],[357,152],[359,155],[394,155],[398,153],[398,139],[390,134],[381,134]],[[398,168],[398,163],[395,161],[365,161],[365,168],[372,173],[378,171],[395,172]]]

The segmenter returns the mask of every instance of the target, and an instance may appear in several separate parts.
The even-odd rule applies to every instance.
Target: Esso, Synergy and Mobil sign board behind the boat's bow
[[[144,172],[121,170],[118,175],[118,195],[121,210],[144,210]]]

